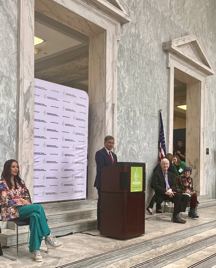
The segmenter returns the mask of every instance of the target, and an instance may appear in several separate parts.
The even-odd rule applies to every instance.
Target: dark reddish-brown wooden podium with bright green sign
[[[101,170],[100,231],[120,239],[145,233],[145,163],[118,162]]]

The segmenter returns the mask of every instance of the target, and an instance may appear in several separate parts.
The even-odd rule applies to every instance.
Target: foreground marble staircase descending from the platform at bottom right
[[[185,215],[186,216],[186,215]],[[169,222],[170,224],[170,222]],[[178,261],[206,247],[216,247],[216,220],[158,236],[130,246],[70,262],[70,268],[159,268]],[[215,252],[208,252],[210,256]],[[213,256],[216,260],[216,256]],[[203,255],[205,258],[205,255]],[[212,260],[213,261],[213,260]],[[94,266],[92,266],[94,264]],[[190,263],[189,263],[190,264]],[[187,263],[188,265],[188,263]],[[185,266],[185,267],[189,267]],[[171,268],[172,266],[170,266]],[[173,266],[174,267],[174,266]],[[179,266],[183,267],[183,266]],[[202,266],[211,267],[211,266]]]

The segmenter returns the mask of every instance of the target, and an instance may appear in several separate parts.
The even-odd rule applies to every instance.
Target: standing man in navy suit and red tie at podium
[[[94,187],[96,187],[98,190],[98,205],[97,205],[98,230],[100,230],[100,219],[101,219],[101,169],[104,168],[105,166],[111,166],[117,163],[117,156],[112,152],[114,144],[115,144],[114,138],[112,136],[106,136],[104,138],[104,148],[97,151],[95,154],[97,173]]]

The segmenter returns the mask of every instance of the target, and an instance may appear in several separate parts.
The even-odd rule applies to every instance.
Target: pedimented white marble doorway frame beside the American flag
[[[174,79],[187,84],[186,163],[191,166],[198,195],[206,194],[206,77],[215,74],[201,40],[188,35],[163,43],[167,52],[168,76],[168,151],[173,148]]]

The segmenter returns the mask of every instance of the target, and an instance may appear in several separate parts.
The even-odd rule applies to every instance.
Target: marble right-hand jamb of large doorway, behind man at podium
[[[103,148],[105,136],[115,136],[116,129],[116,60],[113,61],[116,42],[115,35],[108,31],[89,37],[88,198],[94,199],[98,197],[93,187],[96,177],[95,153]]]

